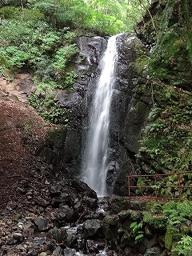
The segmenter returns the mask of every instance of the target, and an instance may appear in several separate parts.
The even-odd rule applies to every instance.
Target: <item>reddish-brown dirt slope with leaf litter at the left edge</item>
[[[32,182],[37,170],[35,143],[46,141],[46,123],[26,104],[33,90],[33,74],[18,74],[13,82],[0,77],[0,209],[10,200],[18,202],[18,188]],[[27,186],[27,184],[26,184]]]

